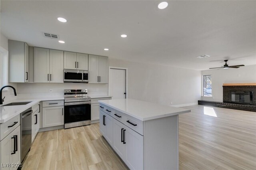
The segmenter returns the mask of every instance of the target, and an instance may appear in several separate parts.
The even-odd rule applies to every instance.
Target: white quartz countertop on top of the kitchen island
[[[134,99],[99,100],[99,103],[102,103],[141,121],[148,121],[190,112],[188,109],[159,105],[156,103],[149,103]]]

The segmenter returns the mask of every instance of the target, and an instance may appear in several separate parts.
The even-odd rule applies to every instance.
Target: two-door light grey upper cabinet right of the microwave
[[[108,83],[108,57],[89,55],[89,83]]]

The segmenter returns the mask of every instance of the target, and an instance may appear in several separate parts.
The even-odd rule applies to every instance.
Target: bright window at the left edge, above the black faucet
[[[0,87],[8,85],[8,51],[0,47]]]

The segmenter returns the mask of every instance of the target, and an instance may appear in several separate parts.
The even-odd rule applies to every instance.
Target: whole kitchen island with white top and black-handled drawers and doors
[[[100,132],[130,169],[178,170],[178,115],[190,110],[134,99],[100,103]]]

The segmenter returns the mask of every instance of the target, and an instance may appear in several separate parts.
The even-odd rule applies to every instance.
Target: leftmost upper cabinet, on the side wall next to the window
[[[8,40],[9,82],[28,82],[28,44]]]

